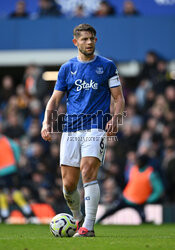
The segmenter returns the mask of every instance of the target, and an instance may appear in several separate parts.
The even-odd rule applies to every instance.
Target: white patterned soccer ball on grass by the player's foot
[[[72,237],[76,230],[76,221],[70,214],[57,214],[50,222],[50,231],[55,237]]]

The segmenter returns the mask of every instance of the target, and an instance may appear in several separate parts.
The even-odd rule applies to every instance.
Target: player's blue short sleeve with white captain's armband
[[[114,88],[121,85],[117,67],[113,62],[111,62],[110,65],[108,85],[109,88]]]

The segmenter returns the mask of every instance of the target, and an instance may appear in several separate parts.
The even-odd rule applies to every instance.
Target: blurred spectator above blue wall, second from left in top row
[[[39,0],[38,17],[59,16],[61,13],[53,0]]]

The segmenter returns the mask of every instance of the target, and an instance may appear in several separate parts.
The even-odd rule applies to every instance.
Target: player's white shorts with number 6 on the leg
[[[105,155],[106,136],[104,130],[91,129],[63,132],[60,146],[60,165],[80,167],[82,157],[92,156],[102,163]]]

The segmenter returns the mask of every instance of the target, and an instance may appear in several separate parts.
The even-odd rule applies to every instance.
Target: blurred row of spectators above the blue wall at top
[[[123,10],[118,13],[117,7],[110,0],[38,0],[35,12],[30,13],[25,0],[16,1],[15,10],[10,18],[42,18],[42,17],[106,17],[106,16],[137,16],[139,11],[134,2],[125,0]]]

